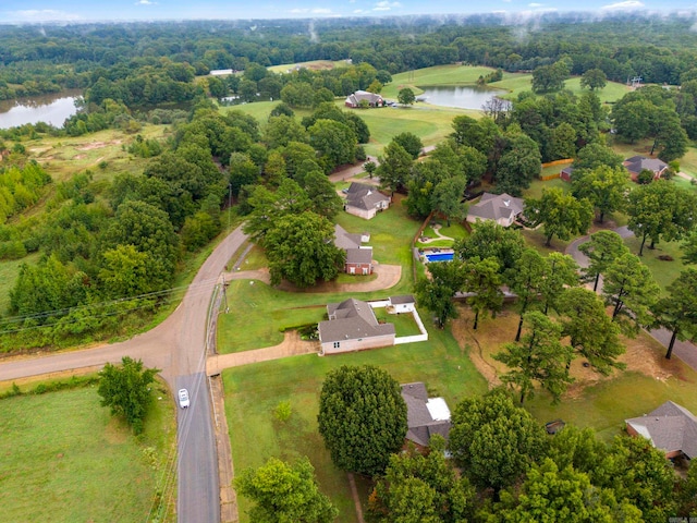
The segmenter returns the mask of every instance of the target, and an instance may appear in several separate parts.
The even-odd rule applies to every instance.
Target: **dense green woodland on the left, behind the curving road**
[[[172,283],[181,262],[221,231],[221,208],[233,195],[241,210],[257,216],[264,233],[273,238],[267,229],[280,228],[281,215],[291,208],[280,199],[286,190],[292,208],[302,207],[310,221],[316,217],[310,226],[329,223],[331,238],[333,224],[321,220],[333,217],[341,199],[326,173],[365,159],[358,141],[369,138],[360,118],[331,102],[302,123],[281,104],[260,130],[253,117],[240,111],[221,115],[200,98],[173,131],[167,144],[136,135],[125,146],[151,157],[142,174],[118,174],[107,185],[94,183],[89,171],[76,174],[57,184],[46,212],[0,228],[5,258],[40,253],[38,263],[22,265],[10,293],[10,316],[0,320],[1,350],[74,344],[140,325],[176,299]],[[20,161],[21,151],[8,158]],[[40,191],[40,183],[49,181],[41,173],[32,162],[8,169],[0,175],[0,197],[7,185],[16,200],[36,203],[21,187]],[[269,216],[279,219],[268,222]],[[297,227],[303,233],[310,229],[306,222]],[[278,242],[289,239],[288,230],[274,234]],[[341,259],[335,262],[330,277]],[[293,280],[285,263],[280,254],[273,275]]]

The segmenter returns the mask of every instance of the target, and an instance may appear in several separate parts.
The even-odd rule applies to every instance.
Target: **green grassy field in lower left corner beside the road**
[[[0,521],[131,523],[150,521],[156,490],[175,503],[174,402],[160,388],[140,438],[94,386],[0,400]]]

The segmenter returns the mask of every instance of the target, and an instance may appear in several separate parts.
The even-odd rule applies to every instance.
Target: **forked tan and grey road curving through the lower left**
[[[155,329],[110,345],[48,356],[20,357],[0,363],[0,381],[29,376],[101,368],[123,356],[143,360],[161,369],[172,391],[187,388],[191,406],[179,410],[179,501],[183,523],[220,521],[218,461],[212,429],[210,397],[206,379],[206,331],[211,295],[225,264],[242,246],[241,228],[225,238],[204,263],[180,306]]]

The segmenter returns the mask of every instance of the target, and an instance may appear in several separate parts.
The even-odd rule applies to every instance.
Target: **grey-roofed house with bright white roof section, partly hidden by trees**
[[[429,398],[421,381],[402,385],[402,398],[406,403],[406,439],[418,447],[428,447],[433,434],[445,440],[450,433],[450,409],[442,398]]]

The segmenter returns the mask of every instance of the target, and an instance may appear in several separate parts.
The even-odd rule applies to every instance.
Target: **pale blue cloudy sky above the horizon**
[[[550,11],[697,12],[697,0],[0,0],[0,23],[320,19]]]

